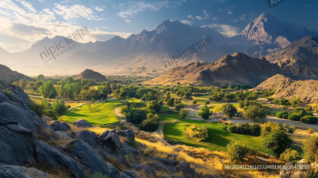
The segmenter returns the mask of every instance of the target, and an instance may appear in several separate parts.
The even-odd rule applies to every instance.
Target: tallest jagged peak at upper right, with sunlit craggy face
[[[262,13],[242,32],[230,38],[229,43],[237,51],[260,57],[283,49],[307,35],[315,33],[294,23],[281,22],[272,14]]]

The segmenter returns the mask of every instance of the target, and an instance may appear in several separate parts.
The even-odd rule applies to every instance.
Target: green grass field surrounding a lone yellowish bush
[[[176,114],[174,114],[176,115]],[[163,121],[173,121],[176,116],[173,115],[161,115]],[[260,146],[259,137],[245,134],[232,134],[226,131],[226,125],[218,122],[205,122],[190,119],[180,119],[181,123],[165,124],[163,126],[163,133],[166,138],[171,140],[178,140],[188,146],[203,147],[209,150],[226,150],[226,145],[233,140],[238,140],[245,145],[250,145],[253,148],[257,148],[260,151],[270,153],[269,150]],[[184,132],[185,125],[189,123],[195,123],[202,125],[208,129],[209,140],[208,142],[196,142],[186,135]]]

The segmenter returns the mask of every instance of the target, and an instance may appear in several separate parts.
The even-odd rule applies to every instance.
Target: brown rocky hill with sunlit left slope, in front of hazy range
[[[253,85],[280,73],[282,73],[280,67],[270,63],[264,57],[252,58],[244,53],[234,53],[231,56],[223,56],[214,64],[197,62],[185,67],[170,69],[162,76],[142,82],[142,84]]]

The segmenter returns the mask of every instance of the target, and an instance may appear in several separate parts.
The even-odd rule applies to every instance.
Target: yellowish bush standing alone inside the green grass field
[[[208,129],[201,125],[187,125],[185,128],[185,133],[197,142],[204,142],[209,139]]]

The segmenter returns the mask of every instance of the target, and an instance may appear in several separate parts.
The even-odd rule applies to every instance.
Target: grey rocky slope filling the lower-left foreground
[[[199,175],[183,160],[147,157],[149,162],[141,164],[146,157],[127,144],[135,142],[129,129],[106,130],[98,136],[85,129],[73,132],[66,122],[48,125],[44,120],[49,118],[41,119],[28,108],[31,100],[23,89],[3,80],[0,83],[0,177],[52,178],[63,174],[86,178],[95,171],[110,178],[157,178],[157,172],[166,174],[162,175],[165,178]],[[10,99],[5,89],[10,90]],[[92,127],[83,120],[76,121],[77,126]],[[127,142],[121,142],[120,137]],[[127,158],[131,158],[129,162]]]

